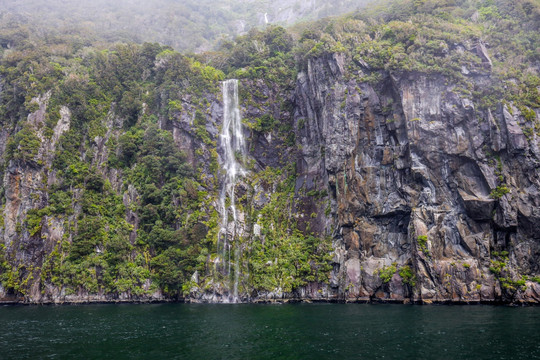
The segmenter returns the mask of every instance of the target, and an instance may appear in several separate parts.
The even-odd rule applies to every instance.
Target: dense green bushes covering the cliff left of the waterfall
[[[159,286],[166,294],[177,294],[193,271],[204,269],[200,254],[213,245],[205,238],[203,195],[194,169],[172,134],[157,125],[162,109],[156,96],[178,105],[182,94],[217,92],[223,73],[156,44],[87,48],[77,54],[79,45],[69,37],[20,41],[0,65],[2,78],[14,85],[1,100],[2,123],[17,124],[35,110],[25,104],[47,90],[51,98],[46,122],[40,126],[50,134],[63,105],[71,111],[71,126],[61,136],[51,164],[58,181],[44,183],[47,203],[28,210],[18,230],[43,236],[42,229],[55,219],[63,224],[65,236],[33,273],[6,255],[11,265],[3,270],[2,283],[9,291],[23,293],[39,271],[43,286],[51,282],[72,292],[129,291],[139,296]],[[55,47],[59,45],[64,46],[60,54]],[[169,106],[169,111],[183,110]],[[107,128],[113,112],[123,122]],[[24,124],[10,138],[6,159],[21,166],[44,166],[36,159],[41,146],[36,133]],[[201,135],[208,142],[208,134]],[[104,136],[109,137],[108,168],[101,169],[93,156],[95,139]],[[121,171],[122,190],[113,188],[105,176],[110,169]],[[125,204],[122,194],[129,186],[137,197]],[[126,206],[137,222],[127,221]],[[145,285],[149,279],[150,287]]]

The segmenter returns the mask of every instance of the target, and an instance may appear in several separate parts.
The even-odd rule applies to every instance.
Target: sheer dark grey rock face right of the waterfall
[[[296,89],[299,183],[328,190],[332,212],[315,222],[343,255],[335,295],[540,300],[535,282],[521,290],[501,281],[540,272],[539,142],[525,137],[524,117],[502,105],[479,111],[442,76],[357,81],[345,61],[310,61]],[[506,262],[502,273],[490,271],[492,260]],[[383,283],[378,272],[392,264]],[[414,286],[397,274],[405,266]]]

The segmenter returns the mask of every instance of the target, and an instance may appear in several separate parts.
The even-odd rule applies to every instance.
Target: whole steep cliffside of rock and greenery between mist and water
[[[538,302],[539,7],[457,5],[197,59],[22,41],[0,69],[0,297]]]

